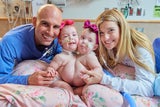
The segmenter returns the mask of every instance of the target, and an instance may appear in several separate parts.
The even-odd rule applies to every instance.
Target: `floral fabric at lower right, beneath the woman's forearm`
[[[83,90],[83,97],[88,107],[130,107],[119,92],[99,84],[90,85]],[[134,107],[160,107],[160,97],[132,98],[136,103]]]

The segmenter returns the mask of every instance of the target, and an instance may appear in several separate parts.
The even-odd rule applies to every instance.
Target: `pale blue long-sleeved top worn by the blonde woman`
[[[138,51],[141,55],[139,60],[146,65],[149,65],[150,68],[154,70],[154,61],[152,59],[152,55],[144,48],[138,48]],[[153,83],[155,80],[154,74],[137,65],[136,63],[134,63],[134,68],[134,80],[122,79],[120,77],[110,77],[104,74],[101,84],[132,95],[153,96]]]

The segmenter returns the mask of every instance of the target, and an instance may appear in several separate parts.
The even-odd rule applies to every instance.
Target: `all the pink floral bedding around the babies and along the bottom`
[[[13,75],[32,74],[45,67],[41,61],[24,61],[15,67]],[[0,107],[129,107],[119,92],[98,84],[84,89],[81,98],[61,88],[0,84]],[[160,107],[160,97],[132,98],[137,107]]]

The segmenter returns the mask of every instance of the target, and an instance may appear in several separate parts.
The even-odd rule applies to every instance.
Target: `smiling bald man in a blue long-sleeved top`
[[[50,60],[62,48],[58,43],[62,11],[53,4],[40,7],[32,24],[18,26],[0,41],[0,84],[49,86],[53,78],[46,71],[30,75],[12,75],[14,67],[24,60]],[[26,69],[27,72],[27,69]]]

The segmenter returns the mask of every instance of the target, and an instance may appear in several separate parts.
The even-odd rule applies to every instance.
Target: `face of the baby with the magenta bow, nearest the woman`
[[[85,29],[79,39],[78,52],[80,54],[87,54],[93,51],[96,45],[96,34]]]

